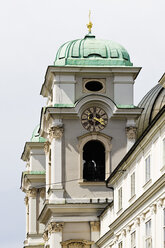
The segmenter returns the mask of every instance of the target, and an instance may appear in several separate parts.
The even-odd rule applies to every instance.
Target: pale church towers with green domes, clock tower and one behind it
[[[97,247],[99,216],[113,200],[106,179],[136,140],[141,68],[121,45],[96,39],[91,22],[88,28],[59,48],[41,88],[47,104],[22,154],[24,247]]]

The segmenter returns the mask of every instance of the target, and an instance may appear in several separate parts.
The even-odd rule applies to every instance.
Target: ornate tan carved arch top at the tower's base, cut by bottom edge
[[[70,239],[61,242],[63,248],[90,248],[94,244],[93,241],[82,240],[82,239]]]

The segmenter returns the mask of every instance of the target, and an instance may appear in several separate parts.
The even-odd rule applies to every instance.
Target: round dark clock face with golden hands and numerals
[[[81,123],[89,132],[97,132],[106,127],[108,116],[103,109],[99,107],[90,107],[83,112]]]

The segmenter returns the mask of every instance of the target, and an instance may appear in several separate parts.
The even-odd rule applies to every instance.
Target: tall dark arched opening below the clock
[[[105,180],[105,147],[98,140],[88,141],[83,147],[83,179]]]

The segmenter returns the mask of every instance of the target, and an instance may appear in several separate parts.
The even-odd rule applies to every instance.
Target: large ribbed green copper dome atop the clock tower
[[[98,40],[88,34],[63,44],[56,55],[55,66],[132,66],[124,47],[109,40]]]

